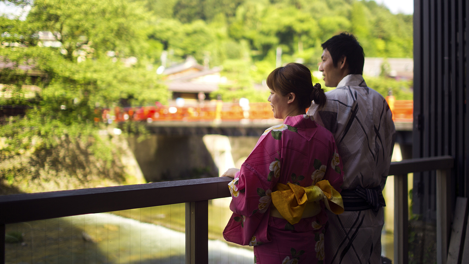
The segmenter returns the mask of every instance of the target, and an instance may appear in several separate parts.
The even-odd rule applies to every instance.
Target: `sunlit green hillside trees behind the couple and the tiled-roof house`
[[[253,91],[281,62],[299,61],[315,70],[321,43],[340,32],[353,33],[367,57],[412,58],[412,15],[394,15],[373,0],[160,0],[144,1],[152,14],[146,34],[153,55],[169,51],[170,61],[187,55],[223,66],[233,82],[214,93],[231,101],[243,95],[264,100]],[[157,45],[158,44],[158,45]],[[160,64],[158,56],[153,63]],[[398,99],[409,83],[387,81]],[[322,80],[316,80],[322,82]],[[411,86],[411,84],[410,84]]]

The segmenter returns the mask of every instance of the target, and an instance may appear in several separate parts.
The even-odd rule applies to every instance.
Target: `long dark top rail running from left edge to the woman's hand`
[[[229,197],[228,177],[0,196],[0,223],[12,224]]]

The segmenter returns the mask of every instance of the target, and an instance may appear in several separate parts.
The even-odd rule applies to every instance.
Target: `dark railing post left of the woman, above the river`
[[[209,263],[209,201],[185,203],[185,263]]]

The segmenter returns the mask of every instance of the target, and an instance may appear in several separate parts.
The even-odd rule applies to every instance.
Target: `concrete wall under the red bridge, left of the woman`
[[[253,150],[257,137],[149,135],[129,147],[147,182],[217,177],[239,168]]]

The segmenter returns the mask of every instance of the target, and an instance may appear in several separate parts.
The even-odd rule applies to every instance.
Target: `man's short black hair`
[[[321,47],[329,51],[334,67],[342,56],[347,57],[350,74],[363,74],[363,64],[365,63],[365,53],[360,43],[354,35],[347,32],[327,39]]]

